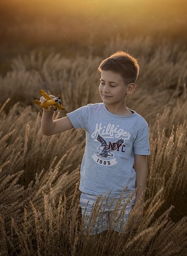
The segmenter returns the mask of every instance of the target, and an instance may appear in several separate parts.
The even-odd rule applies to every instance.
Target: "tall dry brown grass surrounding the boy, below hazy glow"
[[[150,124],[140,227],[117,237],[112,230],[83,235],[78,182],[85,133],[43,136],[41,110],[32,104],[38,89],[61,94],[66,111],[58,118],[98,101],[101,57],[32,52],[14,59],[0,78],[0,255],[186,255],[186,49],[121,39],[111,41],[102,58],[116,50],[139,59],[142,71],[128,106]],[[97,212],[96,205],[93,221]]]

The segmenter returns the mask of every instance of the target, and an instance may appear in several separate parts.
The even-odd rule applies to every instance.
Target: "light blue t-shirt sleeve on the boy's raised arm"
[[[81,108],[68,113],[67,116],[75,129],[85,128],[88,121],[88,106],[82,106]]]

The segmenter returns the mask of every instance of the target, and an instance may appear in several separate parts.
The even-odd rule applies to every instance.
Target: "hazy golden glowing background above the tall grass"
[[[102,55],[111,39],[142,36],[185,44],[185,0],[2,0],[0,72],[30,50],[67,58]]]

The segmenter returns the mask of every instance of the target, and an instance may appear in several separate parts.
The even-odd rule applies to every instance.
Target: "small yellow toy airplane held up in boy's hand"
[[[41,108],[47,110],[48,106],[50,106],[50,108],[54,109],[55,111],[57,110],[57,108],[60,110],[65,110],[64,106],[62,106],[61,104],[60,96],[52,99],[45,91],[39,90],[39,92],[41,96],[45,98],[44,102],[41,102],[37,99],[33,100],[33,102],[41,106]]]

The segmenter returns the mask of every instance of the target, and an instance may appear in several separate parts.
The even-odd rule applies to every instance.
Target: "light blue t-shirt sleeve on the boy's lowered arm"
[[[148,125],[138,131],[137,137],[133,143],[133,148],[136,155],[150,155]]]

